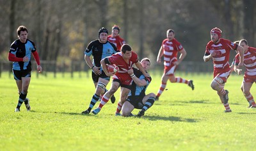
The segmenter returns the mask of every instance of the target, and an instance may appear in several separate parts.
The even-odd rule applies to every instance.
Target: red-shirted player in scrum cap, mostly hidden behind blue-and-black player
[[[114,43],[117,50],[121,50],[122,45],[125,44],[124,39],[119,36],[119,33],[120,27],[118,27],[118,25],[114,25],[112,27],[112,33],[108,36],[108,41]]]

